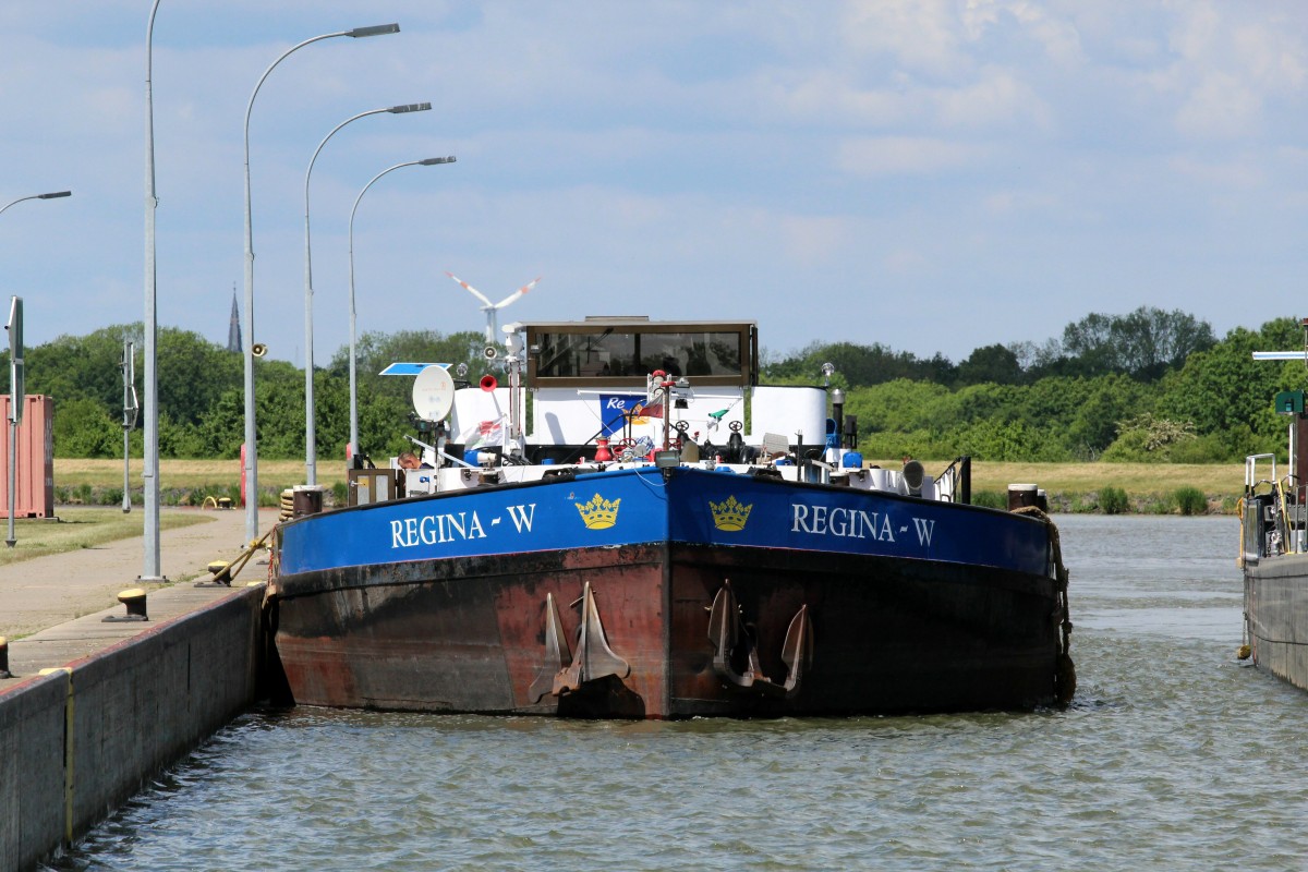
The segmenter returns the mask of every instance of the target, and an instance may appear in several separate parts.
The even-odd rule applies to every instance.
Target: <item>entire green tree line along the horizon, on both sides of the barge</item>
[[[141,324],[60,336],[25,356],[27,392],[55,399],[60,458],[115,458],[123,446],[124,339],[140,357]],[[977,348],[954,363],[882,344],[814,343],[764,352],[763,380],[832,383],[846,394],[867,456],[1015,461],[1232,461],[1284,451],[1286,420],[1273,397],[1308,383],[1303,362],[1256,362],[1253,350],[1303,345],[1300,323],[1281,318],[1224,337],[1181,311],[1141,307],[1090,314],[1044,343]],[[157,339],[158,433],[164,458],[229,459],[245,439],[245,358],[198,333],[161,328]],[[487,366],[475,332],[365,333],[357,344],[361,450],[398,454],[415,433],[412,379],[382,377],[395,361]],[[284,361],[255,361],[259,454],[305,454],[305,374]],[[141,371],[137,363],[137,373]],[[318,456],[344,458],[349,438],[349,352],[314,373]],[[129,433],[141,452],[140,426]]]

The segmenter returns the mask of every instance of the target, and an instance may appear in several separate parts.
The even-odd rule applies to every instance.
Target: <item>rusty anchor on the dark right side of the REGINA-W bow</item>
[[[746,626],[731,591],[731,582],[723,580],[722,588],[713,597],[709,608],[709,642],[713,643],[713,671],[730,686],[751,690],[761,696],[793,698],[799,693],[804,671],[812,663],[814,641],[812,621],[808,620],[808,605],[800,605],[786,628],[786,639],[781,646],[781,662],[786,664],[786,680],[781,684],[763,675],[759,665],[759,646],[749,628]],[[744,646],[746,665],[736,671],[732,655]]]

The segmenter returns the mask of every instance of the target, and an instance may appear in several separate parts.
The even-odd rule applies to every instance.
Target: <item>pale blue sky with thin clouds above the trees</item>
[[[29,345],[144,315],[149,0],[0,4],[0,294]],[[271,9],[271,10],[269,10]],[[158,320],[222,343],[243,306],[251,119],[255,339],[303,361],[360,331],[513,319],[752,318],[763,345],[959,361],[1148,305],[1219,335],[1301,306],[1301,0],[630,4],[162,0]],[[249,341],[249,337],[246,337]]]

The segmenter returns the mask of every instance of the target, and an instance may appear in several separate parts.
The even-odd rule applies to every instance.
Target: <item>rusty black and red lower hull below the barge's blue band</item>
[[[627,675],[534,698],[556,603],[564,662],[581,656],[586,583]],[[765,676],[714,664],[709,611],[730,586]],[[562,716],[780,716],[1020,710],[1054,701],[1056,582],[976,566],[654,543],[283,575],[269,596],[297,703]],[[789,696],[782,646],[811,638]],[[748,651],[747,651],[748,650]],[[776,685],[776,686],[773,686]],[[760,690],[770,689],[772,693]]]

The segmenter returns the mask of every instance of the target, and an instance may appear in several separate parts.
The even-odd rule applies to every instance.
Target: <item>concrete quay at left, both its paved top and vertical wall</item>
[[[139,582],[139,537],[0,569],[13,673],[0,680],[0,869],[72,845],[255,701],[263,588],[245,584],[267,563],[256,554],[233,587],[195,587],[246,544],[245,512],[204,514],[161,533],[167,586]],[[260,512],[260,532],[276,520]],[[149,620],[106,622],[127,613],[116,597],[131,587],[148,591]]]

